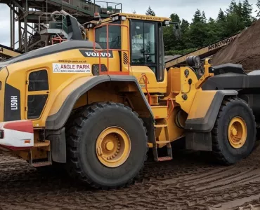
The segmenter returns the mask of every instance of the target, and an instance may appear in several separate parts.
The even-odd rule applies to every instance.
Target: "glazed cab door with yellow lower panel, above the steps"
[[[160,22],[130,20],[131,70],[141,87],[157,92],[164,80],[162,69],[162,38]],[[145,75],[145,78],[142,77]]]

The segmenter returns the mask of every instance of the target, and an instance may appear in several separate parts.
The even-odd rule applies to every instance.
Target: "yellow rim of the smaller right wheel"
[[[240,117],[233,118],[228,125],[228,141],[233,148],[241,148],[247,140],[247,124]]]

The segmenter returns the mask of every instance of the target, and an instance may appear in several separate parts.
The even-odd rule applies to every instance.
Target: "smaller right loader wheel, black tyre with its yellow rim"
[[[214,156],[225,165],[246,158],[256,141],[256,123],[252,109],[242,99],[223,101],[212,130]]]

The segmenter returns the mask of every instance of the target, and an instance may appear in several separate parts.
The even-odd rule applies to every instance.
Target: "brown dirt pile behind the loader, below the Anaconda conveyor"
[[[242,64],[247,71],[260,69],[260,20],[214,55],[213,65],[225,63]]]

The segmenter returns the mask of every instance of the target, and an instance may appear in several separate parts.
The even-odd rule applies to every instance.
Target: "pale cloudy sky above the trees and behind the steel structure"
[[[191,22],[195,10],[204,10],[207,18],[216,18],[219,9],[226,10],[230,4],[230,0],[110,0],[113,2],[122,3],[122,11],[124,13],[133,13],[134,10],[138,14],[145,14],[145,11],[150,6],[155,11],[157,16],[167,17],[171,13],[177,13],[180,18]],[[236,0],[237,2],[239,0]],[[256,1],[249,0],[253,5],[253,11],[256,10]],[[254,13],[255,15],[256,13]],[[0,3],[0,44],[10,46],[10,10],[8,6]],[[16,22],[16,33],[18,34],[18,23]],[[15,41],[18,36],[15,36]]]

